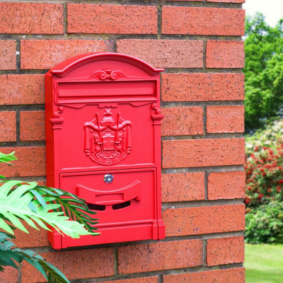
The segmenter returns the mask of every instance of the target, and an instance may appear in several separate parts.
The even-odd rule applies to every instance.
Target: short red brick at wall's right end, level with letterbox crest
[[[244,132],[244,106],[207,106],[207,132]]]

